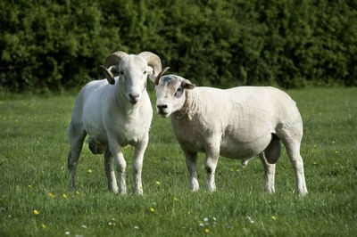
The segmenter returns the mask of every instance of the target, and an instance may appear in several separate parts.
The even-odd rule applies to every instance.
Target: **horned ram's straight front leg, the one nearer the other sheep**
[[[137,143],[135,147],[135,154],[133,160],[133,175],[134,175],[134,190],[139,195],[143,195],[143,184],[141,184],[141,170],[143,169],[144,153],[147,143],[149,141],[149,135],[146,134],[143,140]]]

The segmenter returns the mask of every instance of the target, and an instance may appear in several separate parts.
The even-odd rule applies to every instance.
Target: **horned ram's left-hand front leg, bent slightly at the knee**
[[[110,150],[114,158],[115,165],[119,176],[119,193],[127,194],[127,184],[125,183],[125,170],[127,169],[127,162],[121,151],[121,146],[118,144],[110,143]]]

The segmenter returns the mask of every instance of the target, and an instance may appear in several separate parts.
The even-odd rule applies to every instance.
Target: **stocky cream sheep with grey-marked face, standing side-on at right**
[[[199,189],[197,152],[205,152],[207,191],[216,191],[214,173],[220,155],[243,159],[243,165],[259,155],[264,188],[275,192],[275,163],[281,140],[295,169],[297,191],[307,193],[300,155],[303,120],[289,95],[270,86],[227,90],[195,87],[176,75],[162,77],[165,70],[155,78],[156,110],[163,118],[171,118],[174,134],[185,153],[192,191]]]

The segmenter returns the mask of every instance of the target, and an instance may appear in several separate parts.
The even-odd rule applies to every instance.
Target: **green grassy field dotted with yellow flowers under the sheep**
[[[283,151],[276,193],[262,191],[260,159],[220,158],[218,192],[187,192],[183,152],[170,119],[154,114],[144,196],[107,192],[104,158],[84,145],[78,192],[68,192],[67,127],[74,95],[0,94],[0,236],[356,236],[357,88],[290,90],[303,116],[309,193],[295,193]],[[152,102],[155,102],[152,96]],[[124,149],[132,191],[133,149]],[[68,234],[68,235],[67,235]]]

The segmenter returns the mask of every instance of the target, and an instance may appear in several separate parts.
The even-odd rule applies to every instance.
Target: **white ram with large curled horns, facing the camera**
[[[121,148],[135,146],[133,159],[134,192],[143,194],[141,171],[153,109],[146,92],[147,76],[154,77],[162,70],[160,58],[154,53],[127,54],[115,52],[105,59],[106,79],[87,83],[77,97],[68,130],[70,152],[68,169],[69,189],[77,187],[79,154],[86,135],[88,147],[94,154],[104,153],[108,190],[127,193],[125,170],[127,163]],[[119,77],[116,77],[119,75]],[[119,187],[113,171],[116,163]]]

